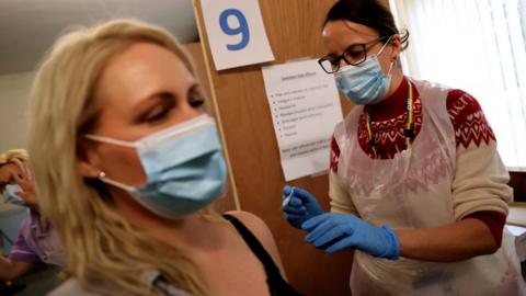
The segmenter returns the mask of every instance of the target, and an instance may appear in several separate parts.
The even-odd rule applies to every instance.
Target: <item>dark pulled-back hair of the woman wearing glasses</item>
[[[380,37],[400,34],[388,8],[378,0],[339,0],[327,13],[323,26],[329,22],[346,20],[363,24],[378,32]],[[402,50],[408,47],[409,31],[401,36]]]

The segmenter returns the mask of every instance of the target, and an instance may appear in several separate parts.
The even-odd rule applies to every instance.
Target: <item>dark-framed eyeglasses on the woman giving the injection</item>
[[[340,70],[342,59],[345,60],[347,65],[357,66],[367,59],[367,50],[369,50],[370,47],[387,38],[388,36],[384,36],[368,43],[353,44],[348,46],[342,55],[327,55],[318,59],[318,64],[320,64],[323,71],[325,71],[327,73],[338,72],[338,70]]]

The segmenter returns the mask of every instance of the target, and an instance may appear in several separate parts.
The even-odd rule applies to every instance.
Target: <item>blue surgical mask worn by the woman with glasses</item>
[[[389,42],[390,38],[380,48],[378,55],[369,56],[357,66],[347,65],[334,73],[338,88],[354,104],[376,104],[385,98],[389,90],[393,61],[391,61],[387,75],[384,73],[378,61],[378,56]]]

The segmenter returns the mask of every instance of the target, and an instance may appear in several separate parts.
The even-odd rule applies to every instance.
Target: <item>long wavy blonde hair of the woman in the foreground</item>
[[[138,42],[175,54],[195,76],[191,58],[167,31],[132,20],[78,30],[59,38],[32,90],[30,152],[41,209],[65,246],[67,272],[87,291],[112,283],[125,294],[160,294],[140,281],[157,270],[178,288],[209,295],[204,273],[181,250],[138,231],[84,180],[76,167],[79,134],[96,121],[98,79],[108,61]]]

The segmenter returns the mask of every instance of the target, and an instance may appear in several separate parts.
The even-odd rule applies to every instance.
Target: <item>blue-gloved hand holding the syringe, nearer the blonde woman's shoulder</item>
[[[283,213],[285,219],[294,227],[301,229],[301,224],[323,214],[316,197],[300,187],[283,187]]]

